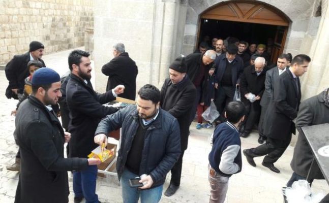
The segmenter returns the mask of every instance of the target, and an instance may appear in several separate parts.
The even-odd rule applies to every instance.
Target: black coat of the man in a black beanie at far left
[[[43,66],[46,67],[42,59],[39,59]],[[17,95],[11,91],[11,89],[18,89],[18,93],[23,93],[24,80],[29,76],[27,69],[27,63],[30,61],[29,52],[21,55],[15,55],[14,58],[6,65],[5,73],[9,81],[9,85],[6,89],[7,98],[17,98]]]

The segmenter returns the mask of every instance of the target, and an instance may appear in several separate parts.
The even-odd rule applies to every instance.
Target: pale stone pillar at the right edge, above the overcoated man
[[[328,1],[322,1],[322,17],[316,39],[313,41],[312,59],[309,70],[302,79],[303,98],[309,98],[329,87],[329,56],[325,47],[329,46]]]

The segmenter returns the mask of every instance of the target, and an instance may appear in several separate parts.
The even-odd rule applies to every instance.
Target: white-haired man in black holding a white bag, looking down
[[[254,124],[258,125],[260,117],[260,98],[263,96],[265,89],[265,75],[267,67],[265,67],[265,59],[258,57],[254,65],[246,67],[240,80],[241,101],[245,104],[247,109],[247,119],[242,123],[243,131],[240,136],[247,138],[252,130]],[[254,95],[255,99],[250,96]]]

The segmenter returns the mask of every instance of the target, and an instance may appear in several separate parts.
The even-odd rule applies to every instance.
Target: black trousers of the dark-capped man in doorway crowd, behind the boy
[[[219,86],[216,93],[215,105],[220,113],[220,120],[226,121],[224,117],[226,105],[233,100],[235,87],[233,86]]]

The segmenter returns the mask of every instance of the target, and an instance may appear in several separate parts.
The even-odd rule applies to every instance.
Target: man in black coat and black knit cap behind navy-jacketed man
[[[189,139],[190,117],[196,96],[196,89],[190,81],[184,57],[176,58],[169,66],[169,78],[161,89],[160,106],[163,110],[173,115],[180,124],[181,131],[181,156],[171,168],[171,180],[166,196],[173,195],[181,184],[182,163],[184,151],[187,149]]]

